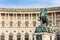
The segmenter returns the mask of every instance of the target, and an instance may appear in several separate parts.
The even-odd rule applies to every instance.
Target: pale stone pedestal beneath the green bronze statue
[[[37,35],[41,35],[40,39],[37,39]],[[54,40],[55,34],[52,33],[35,33],[34,34],[34,40]]]

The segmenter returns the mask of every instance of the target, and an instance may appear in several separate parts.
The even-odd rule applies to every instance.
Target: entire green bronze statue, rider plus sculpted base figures
[[[52,29],[48,27],[48,13],[47,9],[40,9],[40,15],[39,15],[39,21],[40,25],[36,27],[35,33],[40,33],[40,32],[48,32],[48,33],[53,33]]]

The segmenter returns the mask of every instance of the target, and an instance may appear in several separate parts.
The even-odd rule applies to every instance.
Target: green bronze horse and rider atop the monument
[[[40,9],[40,16],[39,19],[42,21],[42,24],[46,23],[46,26],[48,25],[48,18],[47,18],[47,9]]]

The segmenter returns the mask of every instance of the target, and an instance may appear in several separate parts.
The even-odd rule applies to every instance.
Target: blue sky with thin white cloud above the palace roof
[[[60,0],[0,0],[0,8],[60,7]]]

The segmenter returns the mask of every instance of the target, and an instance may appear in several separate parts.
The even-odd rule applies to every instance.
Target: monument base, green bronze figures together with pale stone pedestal
[[[55,35],[53,34],[53,30],[48,26],[41,24],[36,27],[35,40],[54,40]]]

